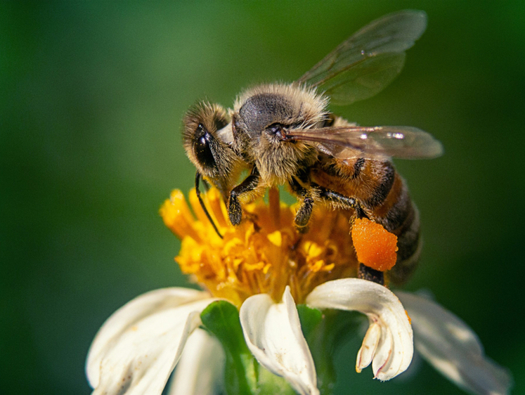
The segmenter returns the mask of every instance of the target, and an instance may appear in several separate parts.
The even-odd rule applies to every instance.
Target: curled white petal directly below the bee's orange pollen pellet
[[[410,321],[399,299],[387,287],[359,278],[342,278],[318,285],[306,297],[306,304],[318,309],[360,311],[368,316],[370,325],[379,325],[380,339],[372,356],[375,378],[390,380],[410,365],[414,352]],[[365,366],[365,359],[370,359],[367,354],[377,341],[374,336],[365,337],[357,370]],[[366,358],[360,361],[363,356]]]

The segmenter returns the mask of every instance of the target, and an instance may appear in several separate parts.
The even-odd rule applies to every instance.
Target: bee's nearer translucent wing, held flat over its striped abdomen
[[[415,127],[324,127],[293,129],[287,139],[313,141],[328,155],[346,159],[399,157],[431,159],[443,154],[443,145],[431,134]]]

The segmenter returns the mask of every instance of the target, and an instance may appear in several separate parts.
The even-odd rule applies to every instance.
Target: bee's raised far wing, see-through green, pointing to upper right
[[[426,27],[423,11],[384,15],[346,39],[297,82],[318,86],[338,105],[369,98],[401,72],[405,51]]]

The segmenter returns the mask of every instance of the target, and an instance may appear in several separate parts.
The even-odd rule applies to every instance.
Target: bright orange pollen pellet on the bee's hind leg
[[[377,271],[390,270],[396,264],[397,236],[370,219],[356,219],[352,240],[359,262]]]

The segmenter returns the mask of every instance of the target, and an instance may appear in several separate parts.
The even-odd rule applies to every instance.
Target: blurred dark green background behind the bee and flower
[[[297,79],[403,8],[429,17],[405,69],[337,112],[443,142],[437,160],[397,162],[425,242],[407,288],[431,290],[471,325],[524,394],[523,0],[3,1],[0,393],[89,394],[84,361],[105,318],[142,292],[186,284],[157,209],[193,184],[180,137],[190,105],[231,106],[250,84]],[[461,393],[426,363],[387,383],[358,375],[357,347],[339,358],[339,389]]]

